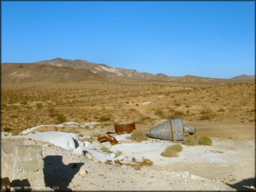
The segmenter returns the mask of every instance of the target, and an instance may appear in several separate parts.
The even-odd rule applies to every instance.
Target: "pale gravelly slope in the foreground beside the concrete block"
[[[192,175],[188,171],[155,170],[152,169],[153,166],[144,166],[137,171],[131,166],[115,166],[91,161],[52,144],[27,139],[23,139],[22,142],[44,146],[45,182],[52,189],[232,190],[230,186],[217,179],[208,180]],[[72,168],[74,163],[77,164],[76,169]]]

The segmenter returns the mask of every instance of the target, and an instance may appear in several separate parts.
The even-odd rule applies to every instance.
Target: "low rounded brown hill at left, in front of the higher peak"
[[[71,67],[45,66],[40,64],[3,64],[1,66],[1,80],[6,83],[31,81],[84,81],[104,79],[86,69]]]

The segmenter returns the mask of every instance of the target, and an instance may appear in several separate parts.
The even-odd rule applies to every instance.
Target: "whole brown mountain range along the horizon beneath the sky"
[[[152,81],[205,82],[221,80],[192,75],[185,75],[182,77],[168,76],[163,73],[153,75],[151,73],[139,72],[134,69],[113,68],[106,64],[95,64],[81,59],[70,60],[56,58],[30,64],[5,63],[1,66],[1,80],[3,82],[107,80],[115,77]],[[240,75],[232,77],[231,79],[254,80],[255,75]]]

